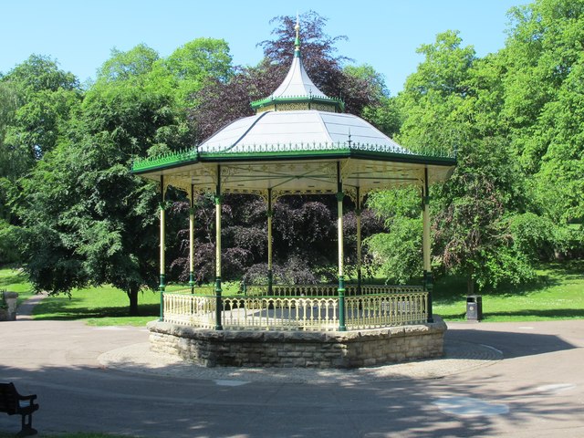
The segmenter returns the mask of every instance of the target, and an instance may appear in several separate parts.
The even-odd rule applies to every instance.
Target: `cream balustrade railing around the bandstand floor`
[[[248,289],[247,295],[224,296],[221,297],[221,325],[234,330],[338,330],[339,297],[333,295],[333,288],[337,292],[328,285],[278,285],[273,288],[272,296],[260,294],[259,289]],[[345,324],[348,329],[420,324],[427,320],[428,294],[422,287],[362,286],[360,295],[355,294],[357,290],[357,287],[347,287]],[[316,293],[327,295],[313,295]],[[217,301],[213,287],[195,288],[194,293],[191,289],[167,292],[163,298],[164,321],[196,328],[216,327]]]

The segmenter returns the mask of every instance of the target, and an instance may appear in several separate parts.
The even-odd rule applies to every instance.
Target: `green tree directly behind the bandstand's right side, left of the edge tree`
[[[440,145],[457,152],[452,178],[431,191],[433,260],[466,276],[468,292],[473,293],[474,285],[485,288],[503,281],[527,281],[533,270],[514,245],[510,228],[509,218],[523,211],[527,201],[505,127],[497,123],[503,104],[498,76],[501,60],[496,56],[479,60],[472,47],[461,43],[451,31],[436,36],[434,44],[420,47],[425,59],[397,98],[403,115],[398,141],[414,151]],[[409,260],[405,254],[419,251],[414,250],[419,246],[396,242],[411,243],[420,226],[419,213],[410,215],[419,198],[410,198],[405,214],[400,213],[403,201],[401,196],[385,195],[384,203],[396,212],[391,216],[393,236],[370,239],[370,245],[386,256],[391,275],[401,280],[420,269],[413,262],[405,264]]]

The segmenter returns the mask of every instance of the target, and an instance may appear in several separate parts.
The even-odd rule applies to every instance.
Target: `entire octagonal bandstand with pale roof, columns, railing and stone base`
[[[367,121],[343,112],[303,67],[299,26],[284,82],[235,120],[187,151],[135,162],[132,172],[161,186],[161,318],[149,324],[151,349],[206,366],[348,368],[440,356],[445,325],[432,311],[429,186],[454,171],[438,148],[409,151]],[[371,191],[415,185],[423,205],[420,286],[372,286],[360,275],[360,212]],[[166,291],[165,203],[168,187],[190,203],[190,285]],[[194,194],[214,193],[214,287],[193,282]],[[238,294],[222,290],[221,210],[225,193],[261,196],[267,214],[267,281]],[[272,278],[272,209],[283,195],[330,194],[338,201],[335,285],[277,285]],[[345,283],[343,198],[357,214],[357,279]],[[436,320],[434,320],[436,319]]]

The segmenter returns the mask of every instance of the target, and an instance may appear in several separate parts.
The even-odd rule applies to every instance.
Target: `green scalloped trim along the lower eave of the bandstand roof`
[[[405,151],[374,144],[360,143],[304,143],[304,144],[262,144],[251,145],[245,151],[229,151],[216,147],[210,151],[198,151],[196,148],[183,151],[167,152],[160,156],[136,160],[132,173],[141,174],[163,169],[172,169],[196,162],[249,162],[282,160],[316,160],[320,158],[363,158],[382,162],[412,162],[443,166],[456,164],[454,153],[437,151],[435,148],[423,148],[420,151]]]

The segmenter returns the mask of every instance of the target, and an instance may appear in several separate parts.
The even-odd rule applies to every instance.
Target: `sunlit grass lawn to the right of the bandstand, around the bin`
[[[447,321],[464,320],[465,287],[465,282],[458,278],[438,281],[433,296],[434,313]],[[537,271],[534,283],[501,286],[477,295],[483,297],[485,321],[584,318],[584,261],[548,264]]]

